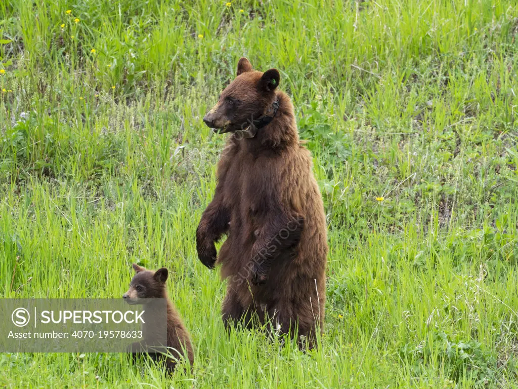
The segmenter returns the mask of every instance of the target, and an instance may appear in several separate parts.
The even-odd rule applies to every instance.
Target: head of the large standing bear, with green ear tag
[[[250,61],[242,57],[237,64],[237,77],[221,92],[218,103],[203,121],[220,133],[245,130],[252,120],[271,110],[279,79],[277,69],[255,71]]]

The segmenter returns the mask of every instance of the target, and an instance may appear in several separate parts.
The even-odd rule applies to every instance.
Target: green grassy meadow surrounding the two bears
[[[0,295],[118,297],[167,266],[196,348],[171,379],[0,354],[0,386],[518,387],[513,0],[5,0],[0,32]],[[224,144],[201,118],[241,55],[279,68],[324,198],[308,354],[226,337],[196,255]]]

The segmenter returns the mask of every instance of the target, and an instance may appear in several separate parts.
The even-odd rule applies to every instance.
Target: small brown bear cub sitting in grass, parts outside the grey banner
[[[189,332],[185,329],[180,315],[167,297],[165,284],[168,276],[167,269],[161,268],[154,272],[146,270],[135,263],[133,264],[133,269],[136,274],[131,281],[130,289],[128,289],[122,297],[130,303],[131,301],[138,301],[136,299],[166,299],[168,352],[175,357],[175,359],[183,358],[185,352],[192,366],[194,354]],[[145,324],[143,324],[142,332],[144,339],[146,339],[146,334],[150,334],[153,331],[154,321],[153,313],[149,313],[149,315],[146,315],[146,313],[147,311],[143,314]],[[133,353],[133,356],[135,356],[135,354],[136,353]],[[171,357],[165,358],[164,355],[157,355],[156,353],[149,353],[148,355],[154,360],[165,361],[166,369],[169,373],[175,370],[177,360]]]

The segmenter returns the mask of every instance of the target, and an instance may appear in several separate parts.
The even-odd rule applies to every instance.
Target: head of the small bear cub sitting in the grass
[[[122,295],[128,304],[137,304],[138,299],[165,298],[168,271],[161,268],[157,271],[146,270],[133,263],[136,274],[130,283],[130,289]]]

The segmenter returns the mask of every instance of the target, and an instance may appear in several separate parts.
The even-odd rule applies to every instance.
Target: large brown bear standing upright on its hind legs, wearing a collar
[[[223,322],[249,326],[255,315],[315,345],[325,305],[324,207],[309,151],[299,141],[279,71],[254,71],[241,58],[237,77],[204,121],[231,132],[218,184],[196,231],[198,257],[228,278]],[[227,239],[216,260],[214,242]],[[317,328],[318,323],[318,328]],[[300,346],[304,343],[300,342]]]

